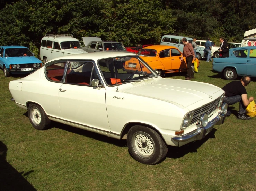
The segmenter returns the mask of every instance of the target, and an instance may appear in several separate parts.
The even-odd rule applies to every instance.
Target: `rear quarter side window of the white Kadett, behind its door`
[[[45,68],[46,77],[50,81],[62,82],[67,62],[53,63]]]

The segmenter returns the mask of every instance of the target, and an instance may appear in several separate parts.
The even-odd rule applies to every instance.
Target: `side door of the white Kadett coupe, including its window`
[[[66,124],[110,132],[105,88],[90,86],[94,63],[69,62],[65,81],[59,90],[59,105]]]

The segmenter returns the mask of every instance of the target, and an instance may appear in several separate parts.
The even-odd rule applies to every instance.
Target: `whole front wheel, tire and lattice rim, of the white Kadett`
[[[168,151],[164,140],[155,130],[140,125],[128,131],[127,145],[135,160],[149,165],[162,161]]]

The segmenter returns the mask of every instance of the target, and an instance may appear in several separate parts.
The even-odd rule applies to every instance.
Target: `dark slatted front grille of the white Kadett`
[[[210,116],[212,112],[218,108],[220,101],[221,97],[215,99],[211,103],[204,105],[201,108],[197,108],[196,110],[194,110],[194,115],[190,124],[197,123],[200,120],[200,117],[202,116],[203,113],[206,113],[208,114],[208,116]]]

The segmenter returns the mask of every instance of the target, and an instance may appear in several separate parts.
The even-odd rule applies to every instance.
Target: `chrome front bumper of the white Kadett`
[[[210,133],[213,129],[214,125],[220,125],[224,123],[225,117],[221,114],[219,114],[217,117],[215,117],[213,120],[209,121],[206,127],[198,127],[194,131],[191,131],[184,135],[179,135],[176,137],[171,138],[172,141],[178,142],[178,143],[189,143],[192,141],[200,140],[205,137],[208,133]],[[184,144],[182,144],[184,145]],[[179,145],[180,146],[180,145]]]

